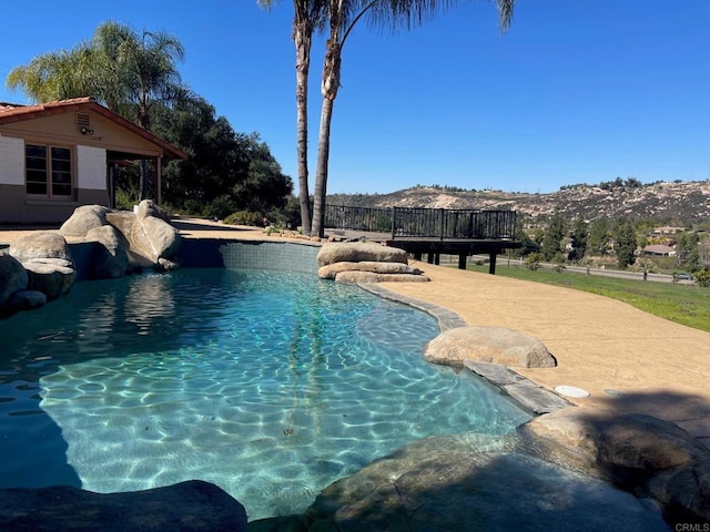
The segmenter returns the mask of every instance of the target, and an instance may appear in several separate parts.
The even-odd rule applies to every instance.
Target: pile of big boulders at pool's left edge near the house
[[[68,238],[74,246],[87,245],[85,272],[79,272]],[[0,250],[0,317],[42,307],[69,293],[82,276],[106,279],[175,268],[172,258],[180,244],[166,214],[149,200],[134,212],[77,207],[58,231],[31,232]]]

